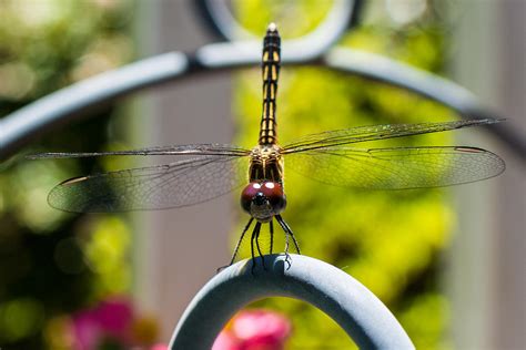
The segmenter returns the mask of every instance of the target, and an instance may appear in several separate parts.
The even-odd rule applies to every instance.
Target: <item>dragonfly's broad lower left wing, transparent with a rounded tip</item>
[[[247,162],[246,156],[203,156],[75,177],[55,186],[48,202],[74,213],[182,207],[221,196],[246,182]]]

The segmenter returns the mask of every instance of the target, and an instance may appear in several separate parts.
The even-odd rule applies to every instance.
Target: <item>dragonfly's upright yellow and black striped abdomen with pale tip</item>
[[[281,39],[274,23],[269,25],[263,40],[263,114],[260,125],[260,145],[275,144],[276,134],[276,93],[280,75]]]

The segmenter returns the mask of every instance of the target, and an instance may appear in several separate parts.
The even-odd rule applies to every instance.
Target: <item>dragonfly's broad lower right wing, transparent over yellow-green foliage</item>
[[[485,179],[504,172],[505,164],[474,147],[328,147],[290,154],[285,167],[336,186],[402,189]]]

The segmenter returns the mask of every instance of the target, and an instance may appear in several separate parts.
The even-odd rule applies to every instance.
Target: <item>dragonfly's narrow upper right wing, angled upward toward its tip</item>
[[[419,124],[385,124],[357,126],[344,130],[335,130],[318,134],[306,135],[284,146],[283,154],[332,147],[365,141],[385,140],[436,133],[467,126],[479,126],[498,123],[498,120],[484,119],[471,121],[455,121],[446,123],[419,123]]]

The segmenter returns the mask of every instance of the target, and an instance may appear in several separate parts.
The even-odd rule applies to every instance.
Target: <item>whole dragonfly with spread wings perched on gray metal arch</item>
[[[486,179],[504,172],[496,154],[469,146],[360,147],[360,143],[445,132],[497,123],[467,120],[443,123],[371,125],[326,131],[277,143],[276,94],[281,68],[281,38],[271,23],[263,40],[263,112],[257,145],[244,148],[225,144],[190,144],[98,153],[41,153],[31,158],[130,155],[184,156],[170,164],[80,176],[57,185],[49,204],[73,213],[129,212],[178,208],[241,191],[241,207],[250,215],[230,265],[255,222],[251,235],[252,258],[263,257],[260,234],[270,226],[273,250],[274,220],[301,254],[297,239],[282,217],[286,207],[284,162],[287,168],[324,184],[370,189],[438,187]],[[263,262],[264,264],[264,262]]]

